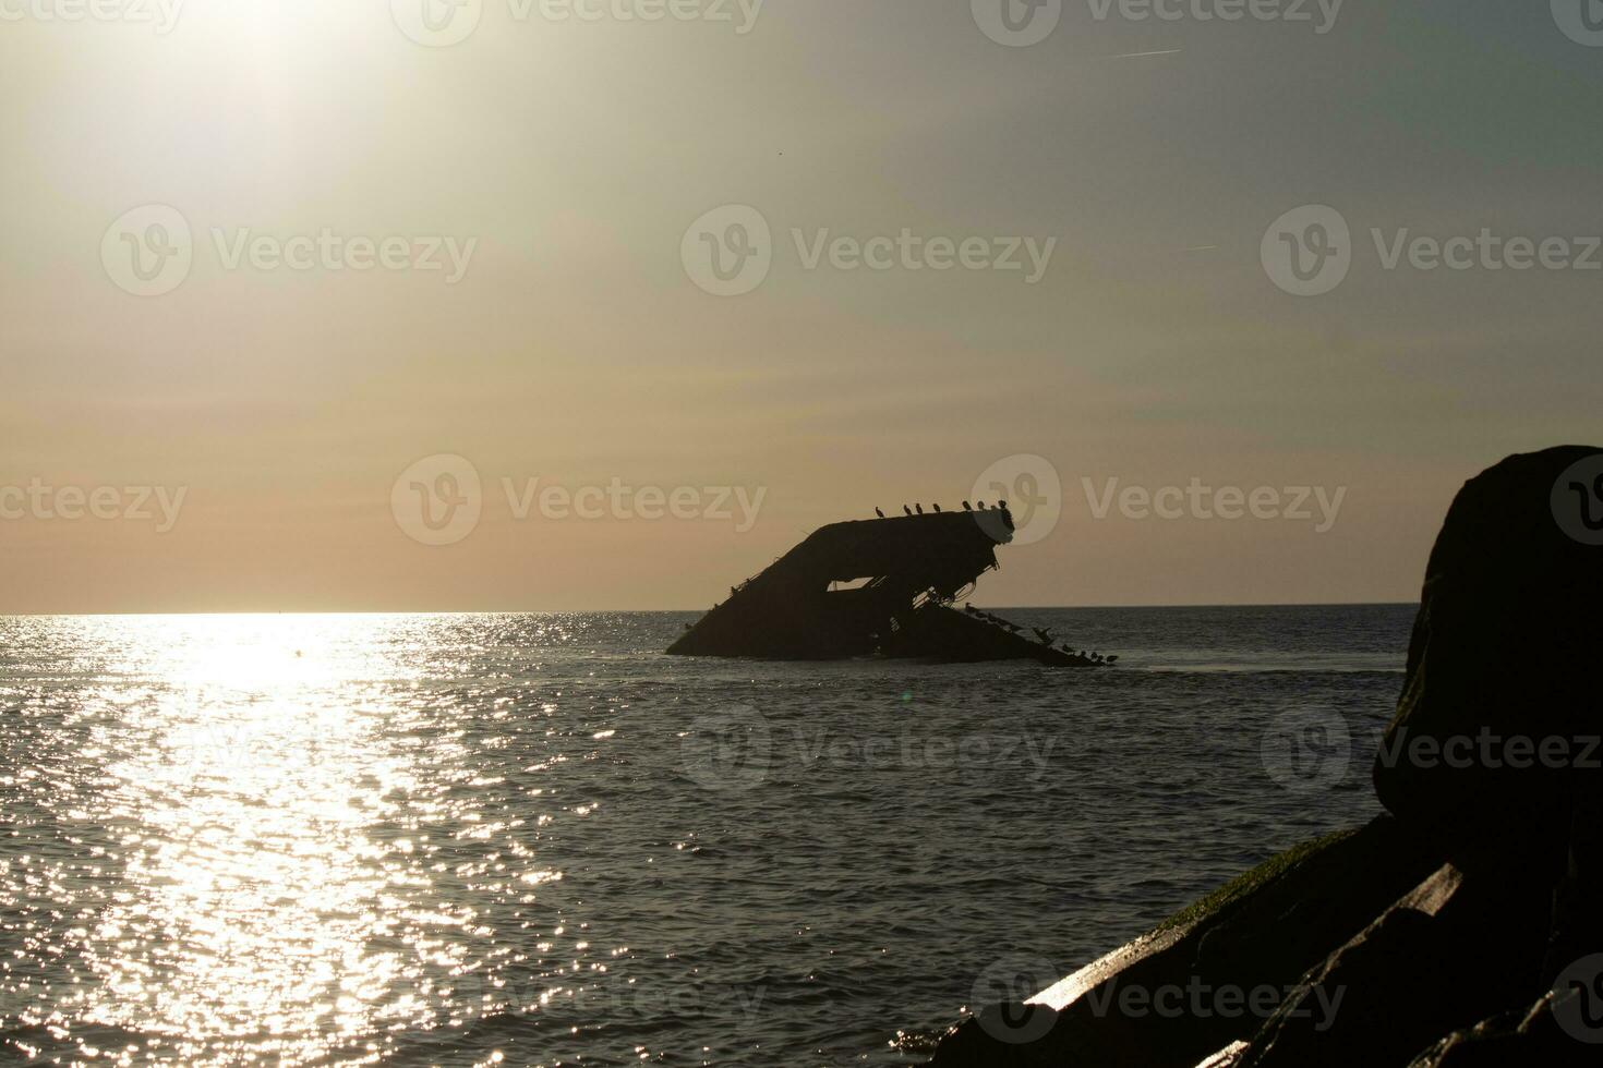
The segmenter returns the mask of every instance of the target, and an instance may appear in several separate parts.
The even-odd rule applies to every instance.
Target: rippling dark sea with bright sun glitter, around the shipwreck
[[[920,1063],[1379,810],[1412,607],[999,612],[1119,666],[0,618],[0,1062]]]

